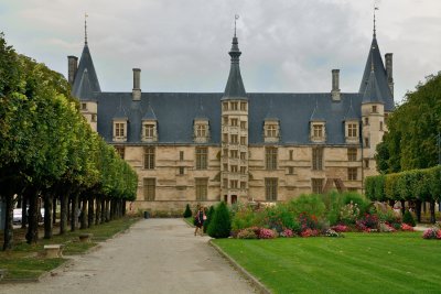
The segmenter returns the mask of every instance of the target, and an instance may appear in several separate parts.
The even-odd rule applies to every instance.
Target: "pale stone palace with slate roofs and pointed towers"
[[[101,91],[85,39],[68,56],[80,111],[139,176],[135,209],[182,210],[219,200],[283,202],[332,188],[363,193],[375,148],[394,111],[392,54],[384,65],[374,34],[361,86],[341,92],[247,92],[236,32],[223,92]]]

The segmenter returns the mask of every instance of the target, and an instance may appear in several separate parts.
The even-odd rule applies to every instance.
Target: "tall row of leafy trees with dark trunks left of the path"
[[[122,215],[126,200],[136,197],[136,172],[90,129],[69,92],[61,74],[17,54],[0,34],[0,197],[7,204],[3,250],[12,248],[17,198],[29,205],[26,241],[34,243],[40,198],[45,208],[44,237],[51,238],[54,199],[61,203],[60,232],[64,233],[68,218],[75,230],[77,207],[82,207],[80,228],[85,228]],[[25,209],[23,205],[23,215]]]

